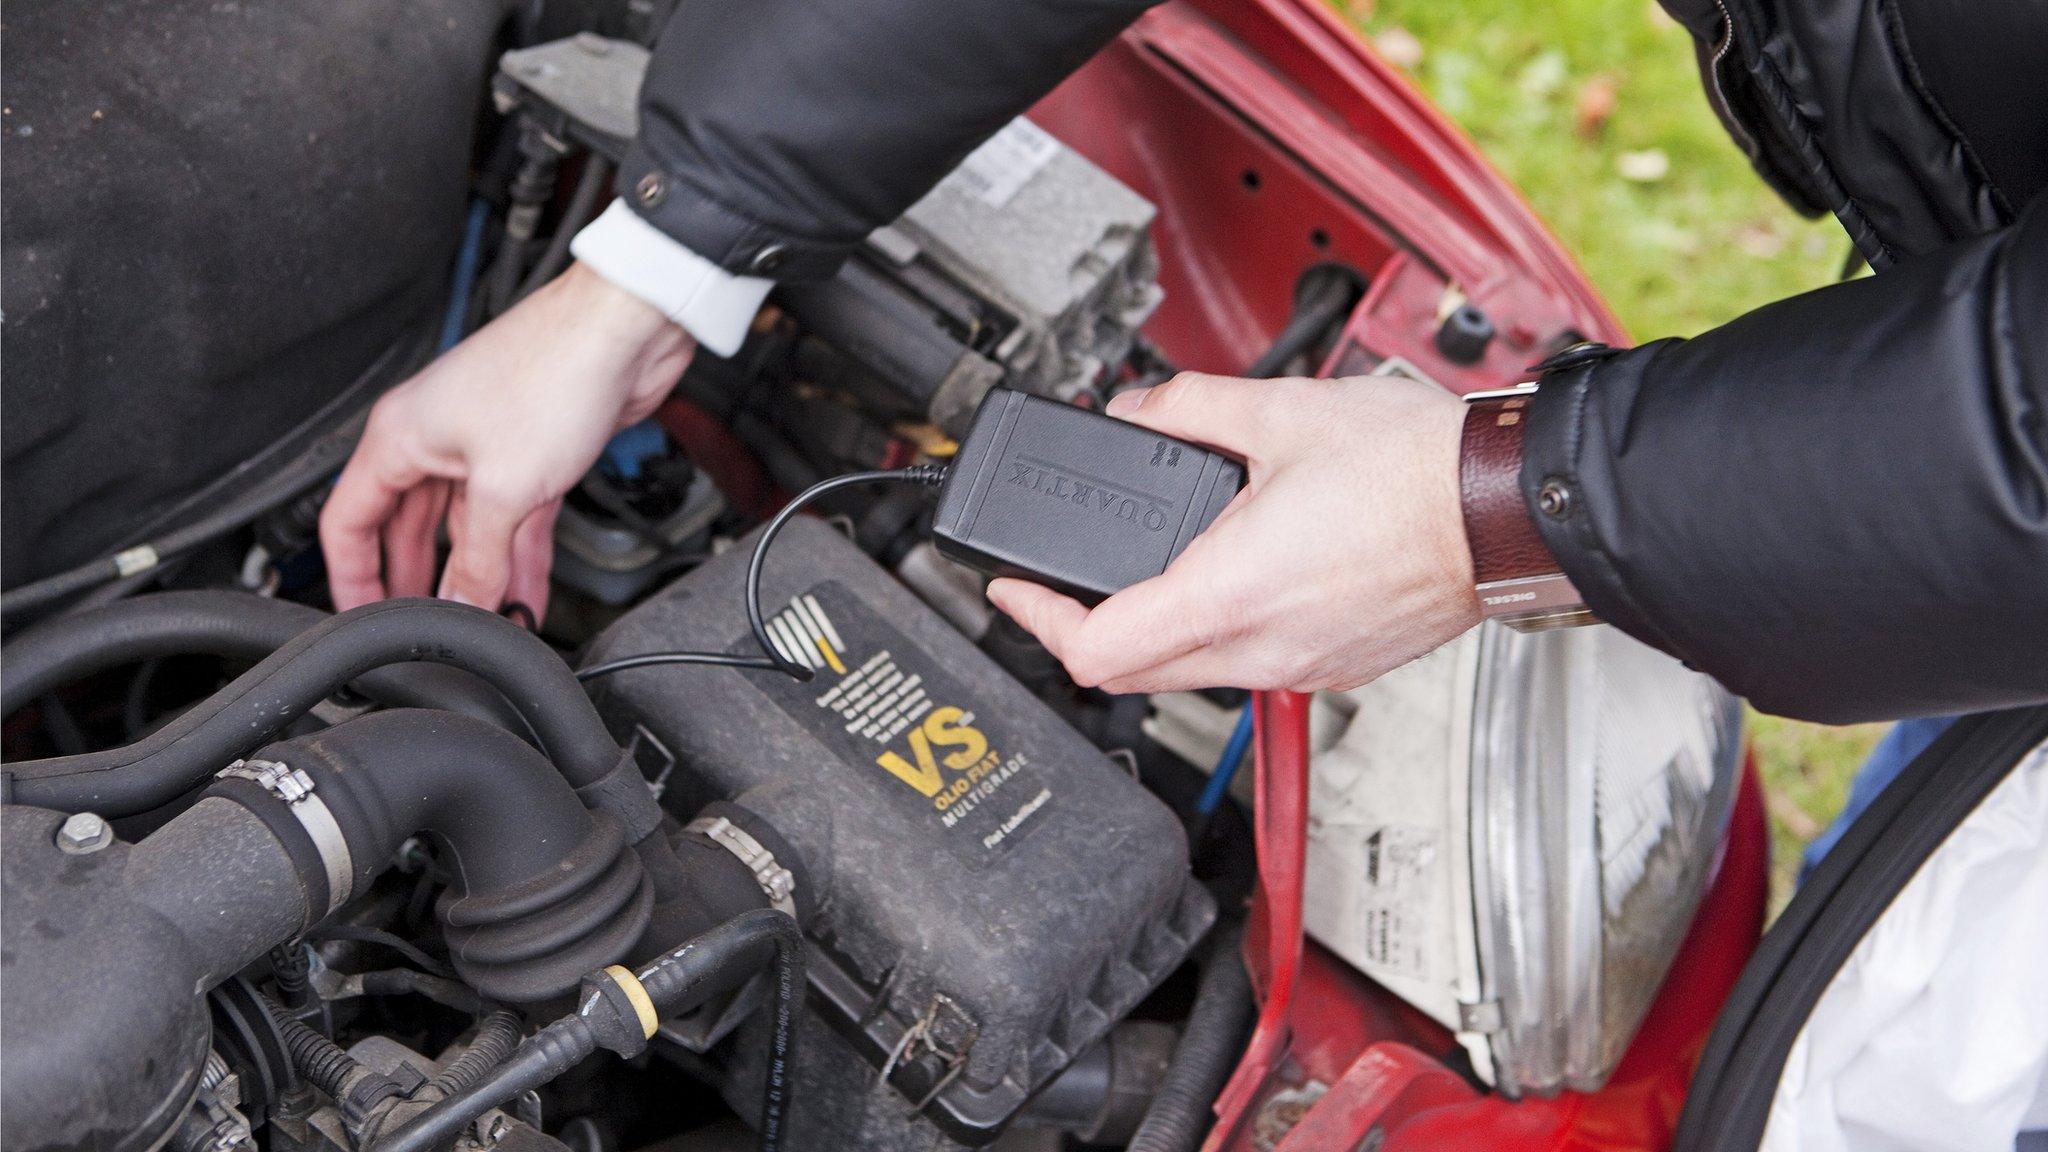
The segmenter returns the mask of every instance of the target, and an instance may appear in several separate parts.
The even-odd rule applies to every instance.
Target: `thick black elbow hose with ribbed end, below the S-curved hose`
[[[586,810],[545,756],[502,728],[391,709],[254,758],[313,781],[348,842],[350,892],[367,892],[408,836],[434,838],[455,875],[436,906],[449,959],[492,1000],[559,996],[647,929],[653,892],[618,820]],[[242,783],[219,787],[246,795]]]

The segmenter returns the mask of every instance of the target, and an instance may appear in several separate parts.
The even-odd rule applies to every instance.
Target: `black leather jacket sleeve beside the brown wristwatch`
[[[2048,197],[1552,373],[1522,490],[1593,611],[1765,711],[2048,699]]]

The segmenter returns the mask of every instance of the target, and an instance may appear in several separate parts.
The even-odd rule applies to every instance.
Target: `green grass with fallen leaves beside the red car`
[[[1655,0],[1350,0],[1339,10],[1409,68],[1556,232],[1638,340],[1692,336],[1831,283],[1849,250],[1788,209],[1729,141],[1692,41]],[[1413,37],[1403,45],[1403,35]],[[1415,47],[1419,45],[1419,57]],[[1589,115],[1612,92],[1612,111]],[[1649,166],[1661,154],[1663,174]],[[1772,910],[1798,849],[1849,793],[1882,726],[1753,715],[1772,810]]]

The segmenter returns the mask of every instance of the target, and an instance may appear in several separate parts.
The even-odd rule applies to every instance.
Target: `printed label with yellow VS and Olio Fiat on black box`
[[[977,715],[961,685],[840,582],[784,605],[768,637],[817,676],[756,685],[899,806],[946,828],[969,867],[1042,822],[1055,799],[1044,773],[1006,740],[997,717]],[[752,633],[729,650],[758,652]]]

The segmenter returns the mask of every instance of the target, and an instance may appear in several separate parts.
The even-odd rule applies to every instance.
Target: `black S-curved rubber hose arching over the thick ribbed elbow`
[[[463,668],[496,687],[571,785],[602,781],[621,748],[555,652],[526,629],[453,601],[383,601],[330,617],[145,740],[8,765],[14,804],[129,816],[176,799],[338,687],[385,664]]]

